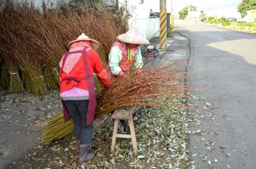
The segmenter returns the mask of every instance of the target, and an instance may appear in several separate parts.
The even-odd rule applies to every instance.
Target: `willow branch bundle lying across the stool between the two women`
[[[179,94],[193,91],[194,88],[180,83],[191,74],[184,76],[184,69],[176,70],[172,67],[173,64],[145,70],[142,74],[132,72],[128,76],[113,81],[107,89],[103,89],[96,95],[95,118],[125,106],[172,105],[161,98],[174,98]],[[64,122],[63,114],[57,115],[59,116],[47,122],[44,129],[43,140],[46,143],[62,137],[67,138],[73,134],[72,120]]]

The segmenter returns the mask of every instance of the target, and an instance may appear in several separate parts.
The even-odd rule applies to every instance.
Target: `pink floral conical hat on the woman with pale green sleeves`
[[[150,44],[149,41],[141,35],[138,28],[132,28],[128,32],[117,36],[116,39],[124,43],[140,44],[140,45]]]

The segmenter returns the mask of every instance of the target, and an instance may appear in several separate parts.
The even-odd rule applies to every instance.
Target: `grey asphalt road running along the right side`
[[[190,40],[187,71],[195,74],[188,84],[210,84],[195,93],[204,100],[189,100],[202,110],[202,124],[191,125],[203,130],[188,138],[188,150],[196,153],[190,160],[197,168],[256,168],[256,35],[184,21],[174,25]]]

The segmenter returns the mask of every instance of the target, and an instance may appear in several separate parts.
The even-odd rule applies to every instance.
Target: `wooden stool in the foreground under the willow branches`
[[[112,152],[115,149],[116,137],[119,137],[119,138],[131,138],[132,139],[133,151],[135,153],[137,153],[138,148],[137,148],[135,130],[134,130],[133,121],[132,121],[132,112],[133,112],[133,110],[134,110],[134,107],[124,107],[124,108],[117,109],[113,113],[112,119],[114,119],[115,122],[114,122],[113,137],[112,137],[112,144],[111,144],[111,151]],[[131,135],[129,135],[129,134],[117,134],[118,120],[128,120],[129,121],[129,127],[130,127],[130,131],[131,131]]]

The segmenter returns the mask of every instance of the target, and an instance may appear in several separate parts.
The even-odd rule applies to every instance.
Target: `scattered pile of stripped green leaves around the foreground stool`
[[[63,147],[58,145],[61,144],[60,141],[56,141],[54,144],[43,145],[45,152],[49,152],[48,148],[57,149],[56,147],[58,147],[54,151],[59,152],[55,154],[55,157],[47,156],[48,166],[63,168],[118,168],[120,166],[124,168],[189,168],[191,163],[188,158],[191,153],[187,150],[187,136],[190,133],[189,121],[193,119],[187,112],[185,95],[179,94],[173,95],[173,98],[159,99],[164,100],[164,104],[177,106],[136,108],[133,113],[133,122],[138,153],[133,152],[132,141],[126,138],[117,138],[114,152],[109,151],[114,124],[111,114],[105,114],[94,123],[92,152],[96,155],[91,161],[79,165],[75,141],[68,141],[68,145]],[[129,124],[126,122],[123,125],[124,129],[118,129],[118,133],[130,134]],[[46,160],[44,158],[42,155],[37,159]]]

